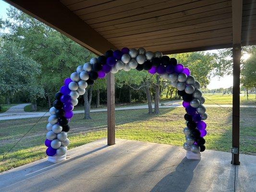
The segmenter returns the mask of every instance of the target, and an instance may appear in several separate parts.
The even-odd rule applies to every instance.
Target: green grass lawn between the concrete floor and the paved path
[[[147,114],[146,109],[116,111],[116,137],[122,139],[182,146],[185,126],[182,108],[161,108],[160,115]],[[230,152],[232,141],[232,109],[207,108],[207,149]],[[69,149],[107,137],[107,113],[92,113],[93,120],[75,114],[70,122]],[[256,109],[241,108],[241,153],[256,154]],[[33,126],[37,118],[0,121],[0,171],[18,167],[46,157],[44,146],[48,118],[42,118],[12,152],[12,145]]]

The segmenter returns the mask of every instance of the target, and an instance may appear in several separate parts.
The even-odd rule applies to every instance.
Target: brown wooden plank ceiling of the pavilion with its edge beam
[[[81,29],[81,22],[78,22],[80,25],[73,25],[74,20],[67,21],[73,15],[79,17],[87,30],[81,31],[90,45],[83,44],[82,37],[74,38],[71,34],[71,38],[96,53],[102,53],[106,47],[144,47],[151,51],[179,53],[228,48],[233,44],[232,0],[6,1],[65,35],[71,34],[69,30],[72,30],[65,28],[76,27],[76,31]],[[60,4],[65,8],[58,10]],[[38,9],[35,9],[36,6]],[[47,12],[43,13],[47,6],[53,11],[48,7]],[[51,15],[54,9],[58,10],[55,16]],[[53,18],[47,18],[46,14]],[[63,18],[64,14],[68,17]],[[61,18],[67,21],[67,26],[56,25],[54,19]],[[243,0],[242,35],[240,32],[242,45],[255,44],[255,34],[256,0]],[[96,48],[94,44],[98,44]]]

